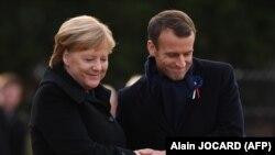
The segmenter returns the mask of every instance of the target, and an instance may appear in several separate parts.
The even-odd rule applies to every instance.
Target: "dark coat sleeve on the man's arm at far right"
[[[238,82],[231,65],[222,67],[217,126],[210,135],[243,136],[244,120]]]

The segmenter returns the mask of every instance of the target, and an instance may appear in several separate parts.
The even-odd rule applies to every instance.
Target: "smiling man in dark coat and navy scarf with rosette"
[[[130,148],[165,148],[167,136],[243,136],[233,68],[193,57],[196,29],[178,10],[153,16],[145,74],[119,91],[117,119]]]

